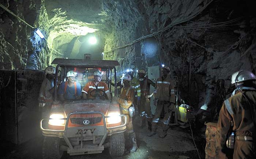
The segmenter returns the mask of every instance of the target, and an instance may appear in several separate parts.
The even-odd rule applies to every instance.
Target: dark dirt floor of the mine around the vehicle
[[[199,150],[200,158],[204,158],[205,137],[204,130],[193,131],[195,143]],[[148,137],[147,128],[135,128],[138,150],[133,153],[125,151],[125,155],[115,159],[198,159],[190,128],[171,126],[165,138],[159,138],[158,134]],[[4,140],[0,141],[2,153],[1,159],[41,159],[43,136],[34,138],[19,146],[15,146]],[[109,159],[108,150],[102,154],[69,156],[64,154],[62,159]]]

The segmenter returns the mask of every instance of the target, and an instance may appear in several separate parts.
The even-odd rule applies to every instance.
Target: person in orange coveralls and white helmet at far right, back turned
[[[237,89],[224,101],[219,112],[217,146],[226,156],[232,156],[232,149],[228,147],[233,145],[234,159],[256,159],[255,80],[255,75],[250,71],[234,73],[231,83],[235,84]],[[233,135],[230,135],[232,133]],[[230,136],[234,140],[227,142]]]

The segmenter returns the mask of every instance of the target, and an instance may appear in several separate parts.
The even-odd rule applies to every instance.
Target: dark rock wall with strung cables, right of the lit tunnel
[[[178,76],[182,98],[200,108],[211,102],[218,79],[225,80],[229,95],[233,72],[248,69],[255,73],[256,16],[252,4],[238,0],[104,1],[115,41],[105,51],[128,44],[106,57],[120,61],[120,72],[127,67],[170,65],[172,76]],[[153,55],[143,49],[148,41],[145,36],[158,45]]]

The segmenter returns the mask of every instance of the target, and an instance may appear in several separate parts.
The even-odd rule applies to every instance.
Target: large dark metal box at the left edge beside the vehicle
[[[0,139],[15,144],[40,135],[38,95],[43,71],[0,70]]]

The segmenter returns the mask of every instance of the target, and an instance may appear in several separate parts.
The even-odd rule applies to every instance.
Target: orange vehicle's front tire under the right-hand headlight
[[[109,154],[112,157],[115,156],[123,156],[124,155],[124,144],[125,144],[125,139],[124,139],[124,133],[117,133],[113,134],[110,137],[110,146],[109,146]]]

